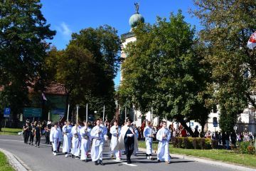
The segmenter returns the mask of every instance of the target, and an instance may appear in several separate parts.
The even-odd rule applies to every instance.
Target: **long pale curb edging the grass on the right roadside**
[[[139,148],[139,150],[146,152],[145,148]],[[218,165],[218,166],[222,166],[222,167],[228,167],[233,170],[255,171],[255,168],[245,167],[245,166],[240,166],[240,165],[232,165],[232,164],[228,164],[226,162],[218,162],[215,160],[206,160],[206,159],[201,159],[198,157],[191,157],[191,156],[187,156],[187,155],[176,155],[176,154],[170,154],[170,155],[171,155],[171,157],[177,157],[177,158],[186,159],[186,160],[193,160],[196,162],[203,162],[203,163],[210,164],[210,165]]]

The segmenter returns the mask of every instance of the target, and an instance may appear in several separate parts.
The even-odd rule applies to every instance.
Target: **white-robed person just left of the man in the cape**
[[[121,160],[121,152],[120,150],[114,150],[114,147],[117,146],[117,140],[121,133],[121,128],[117,125],[117,120],[114,120],[114,125],[110,128],[111,133],[111,142],[110,142],[110,150],[111,156],[116,160]]]

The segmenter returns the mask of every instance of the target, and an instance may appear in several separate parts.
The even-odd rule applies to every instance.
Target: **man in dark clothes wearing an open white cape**
[[[121,134],[114,150],[125,150],[125,154],[127,155],[127,164],[131,164],[131,155],[137,152],[138,140],[136,138],[134,128],[131,127],[132,120],[128,118],[126,121],[126,125],[121,129]]]

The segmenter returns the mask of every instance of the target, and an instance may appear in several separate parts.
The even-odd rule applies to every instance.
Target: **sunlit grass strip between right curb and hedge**
[[[146,148],[144,141],[139,141],[139,147]],[[157,142],[153,143],[154,151],[157,150]],[[256,168],[256,155],[238,154],[232,150],[193,150],[175,148],[170,145],[170,153],[179,155],[190,155],[195,157],[206,158],[210,160],[218,160],[223,162],[234,163],[237,165],[245,165],[247,167]]]

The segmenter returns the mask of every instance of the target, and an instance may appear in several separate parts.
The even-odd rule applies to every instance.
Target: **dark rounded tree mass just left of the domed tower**
[[[57,81],[67,90],[67,105],[89,103],[90,113],[105,105],[114,114],[114,77],[119,66],[120,40],[111,26],[85,28],[73,33],[63,56],[58,58]],[[102,114],[101,114],[102,115]]]

